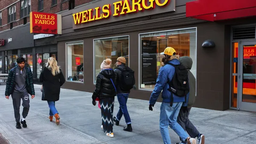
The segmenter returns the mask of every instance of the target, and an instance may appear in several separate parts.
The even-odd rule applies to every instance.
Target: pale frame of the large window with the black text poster
[[[144,35],[144,34],[154,34],[154,33],[160,33],[160,32],[172,32],[172,31],[180,31],[180,30],[187,30],[187,29],[195,29],[195,58],[197,59],[197,40],[198,40],[198,37],[197,37],[197,27],[188,27],[188,28],[183,28],[183,29],[169,29],[169,30],[164,30],[164,31],[154,31],[154,32],[145,32],[145,33],[139,33],[138,34],[138,40],[139,40],[139,46],[138,46],[138,49],[139,49],[139,65],[138,65],[138,69],[139,69],[139,72],[138,72],[138,78],[139,78],[139,81],[137,82],[138,84],[138,90],[143,90],[143,91],[149,91],[149,92],[153,92],[154,88],[153,89],[142,89],[140,88],[141,87],[141,38],[140,38],[140,35]],[[195,64],[195,69],[196,69],[196,74],[197,74],[197,61],[196,63],[193,62],[193,64]],[[196,75],[195,75],[195,78],[197,79]],[[197,83],[197,80],[196,80],[196,83]],[[197,84],[196,84],[196,89],[197,89]],[[196,92],[197,90],[195,90]]]

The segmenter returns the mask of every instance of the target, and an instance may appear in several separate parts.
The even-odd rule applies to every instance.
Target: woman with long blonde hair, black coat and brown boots
[[[39,81],[43,83],[42,101],[47,101],[50,108],[49,119],[52,121],[53,116],[55,116],[55,122],[59,125],[60,117],[55,108],[55,101],[60,98],[60,90],[65,83],[65,78],[55,58],[48,58],[48,63],[41,72]]]

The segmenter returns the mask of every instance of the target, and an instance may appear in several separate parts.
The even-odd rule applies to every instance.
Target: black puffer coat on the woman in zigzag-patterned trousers
[[[116,89],[112,83],[115,84],[115,73],[113,69],[103,69],[99,72],[96,79],[96,87],[93,92],[93,100],[98,98],[111,98],[116,96]]]

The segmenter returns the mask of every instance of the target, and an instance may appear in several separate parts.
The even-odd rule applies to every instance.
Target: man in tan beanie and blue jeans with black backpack
[[[117,68],[114,69],[116,74],[116,92],[117,92],[117,100],[119,102],[119,111],[116,117],[113,117],[113,121],[116,122],[116,125],[119,125],[119,121],[122,118],[122,115],[125,117],[125,122],[127,127],[124,127],[124,131],[131,132],[131,118],[127,110],[127,100],[130,93],[130,90],[133,88],[135,84],[134,71],[130,69],[128,66],[125,66],[126,60],[124,57],[119,57],[116,60]]]

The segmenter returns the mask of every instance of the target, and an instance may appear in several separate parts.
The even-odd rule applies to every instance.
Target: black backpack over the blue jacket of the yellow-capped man
[[[189,73],[188,70],[181,63],[174,65],[172,63],[166,63],[175,67],[175,73],[172,78],[172,81],[168,82],[169,91],[177,95],[178,97],[185,96],[189,93]],[[173,101],[173,96],[171,97]]]

